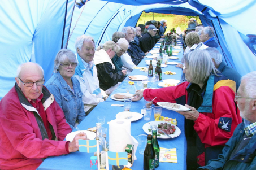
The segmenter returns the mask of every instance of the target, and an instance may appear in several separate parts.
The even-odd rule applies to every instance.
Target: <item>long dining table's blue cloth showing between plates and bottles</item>
[[[159,48],[159,43],[155,45],[154,48]],[[171,60],[168,59],[168,62],[178,62],[181,63],[181,58],[183,56],[183,50],[182,49],[173,49],[173,50],[179,50],[181,51],[179,55],[176,55],[179,57],[179,59]],[[151,56],[151,54],[147,54],[147,56]],[[138,67],[148,67],[145,60],[151,60],[151,58],[147,58],[147,56],[141,61],[140,64],[138,64]],[[176,79],[180,80],[182,75],[182,69],[175,67],[176,65],[168,65],[168,67],[163,67],[162,71],[172,71],[176,72],[176,75],[165,75],[163,74],[163,80],[164,79]],[[155,68],[154,68],[155,69]],[[133,75],[145,75],[147,76],[147,72],[140,71],[140,69],[133,69],[131,73],[129,73],[129,76]],[[149,77],[149,81],[151,80],[151,77]],[[124,81],[116,88],[113,94],[116,93],[127,93],[127,87],[129,87],[129,93],[134,93],[136,86],[136,89],[139,88],[136,81],[134,85],[130,85],[128,82],[132,81],[129,80],[128,77],[124,79]],[[160,81],[162,82],[162,81]],[[158,84],[154,84],[149,82],[148,84],[151,88],[162,88]],[[134,90],[133,90],[134,89]],[[168,95],[168,94],[167,94]],[[85,119],[78,125],[79,130],[86,130],[88,128],[96,127],[97,116],[106,116],[105,124],[102,125],[102,127],[105,127],[108,129],[107,131],[107,141],[109,141],[109,124],[107,122],[116,119],[116,114],[119,112],[124,111],[123,107],[115,107],[111,106],[111,104],[124,104],[123,101],[115,101],[111,99],[110,97],[105,101],[99,103],[92,112],[88,116],[85,117]],[[132,102],[131,110],[132,112],[138,112],[141,113],[141,109],[143,106],[145,106],[143,98],[140,101],[133,101]],[[167,110],[165,108],[162,109],[162,116],[170,117],[170,118],[176,118],[177,120],[177,127],[180,128],[181,134],[175,138],[168,138],[168,139],[160,139],[158,138],[158,143],[160,147],[171,149],[176,148],[177,152],[177,163],[163,163],[160,162],[159,167],[156,169],[164,170],[164,169],[186,169],[186,137],[184,132],[184,123],[185,118],[183,115],[178,114],[175,111]],[[152,111],[151,119],[150,121],[154,121],[154,113]],[[131,135],[133,137],[138,136],[140,134],[147,134],[142,129],[143,125],[148,123],[149,121],[142,119],[139,119],[137,121],[133,121],[131,123]],[[77,129],[73,129],[73,131],[77,131]],[[44,162],[38,167],[38,169],[90,169],[90,156],[93,156],[93,153],[88,154],[85,152],[71,152],[67,155],[61,155],[61,156],[50,156],[49,158],[45,159]],[[134,160],[134,164],[131,167],[131,169],[143,169],[143,155],[141,155],[138,150],[136,151],[136,157],[137,160]],[[112,169],[111,165],[109,165],[109,169]]]

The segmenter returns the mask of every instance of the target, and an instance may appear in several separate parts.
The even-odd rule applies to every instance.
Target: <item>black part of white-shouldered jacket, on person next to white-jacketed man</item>
[[[118,84],[118,82],[122,82],[124,79],[123,72],[116,72],[109,62],[97,64],[96,67],[98,72],[99,87],[104,91]]]

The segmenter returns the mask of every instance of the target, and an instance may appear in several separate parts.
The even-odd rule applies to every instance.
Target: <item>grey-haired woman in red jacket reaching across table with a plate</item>
[[[205,165],[208,160],[216,159],[242,120],[234,102],[235,82],[220,75],[206,50],[185,54],[183,63],[186,66],[183,72],[187,82],[174,87],[138,91],[133,101],[142,97],[157,97],[154,104],[171,102],[191,109],[178,112],[186,118],[187,160],[191,168],[193,163]]]

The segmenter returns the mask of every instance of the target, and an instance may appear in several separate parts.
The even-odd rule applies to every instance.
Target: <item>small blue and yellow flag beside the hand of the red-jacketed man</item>
[[[80,152],[97,152],[97,142],[96,140],[78,140],[79,151]]]

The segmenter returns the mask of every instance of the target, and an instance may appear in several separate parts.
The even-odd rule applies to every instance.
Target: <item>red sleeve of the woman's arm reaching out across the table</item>
[[[174,87],[160,88],[160,89],[145,89],[143,92],[144,99],[154,99],[154,104],[157,102],[171,102],[176,103],[175,99],[186,95],[186,87],[189,82],[183,82]]]

